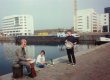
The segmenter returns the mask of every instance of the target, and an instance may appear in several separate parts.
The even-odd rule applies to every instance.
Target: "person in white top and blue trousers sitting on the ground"
[[[44,68],[46,64],[47,63],[45,61],[45,51],[41,50],[40,54],[37,57],[36,65],[38,68]]]

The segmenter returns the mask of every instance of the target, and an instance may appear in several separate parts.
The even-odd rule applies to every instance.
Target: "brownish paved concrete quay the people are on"
[[[37,77],[13,79],[12,73],[0,80],[110,80],[110,43],[75,54],[77,64],[67,64],[67,57],[55,59],[53,66],[37,71]]]

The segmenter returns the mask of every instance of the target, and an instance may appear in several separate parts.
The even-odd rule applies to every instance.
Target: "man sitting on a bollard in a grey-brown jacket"
[[[30,75],[31,74],[31,66],[29,61],[31,61],[32,59],[28,58],[26,55],[26,45],[27,45],[27,41],[25,39],[21,40],[21,46],[16,49],[16,56],[17,56],[17,60],[18,63],[25,66],[27,69],[27,74]]]

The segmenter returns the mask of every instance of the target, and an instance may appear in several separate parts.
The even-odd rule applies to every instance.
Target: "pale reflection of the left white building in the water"
[[[4,43],[2,44],[3,46],[3,53],[4,53],[4,57],[6,60],[13,62],[14,60],[16,60],[16,49],[20,48],[20,45],[15,45],[14,43]],[[35,46],[27,46],[26,50],[28,53],[27,56],[29,56],[30,58],[35,58]]]

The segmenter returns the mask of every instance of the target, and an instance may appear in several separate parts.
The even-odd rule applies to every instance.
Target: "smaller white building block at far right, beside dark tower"
[[[101,32],[109,32],[109,13],[103,13],[99,15],[99,26]]]

